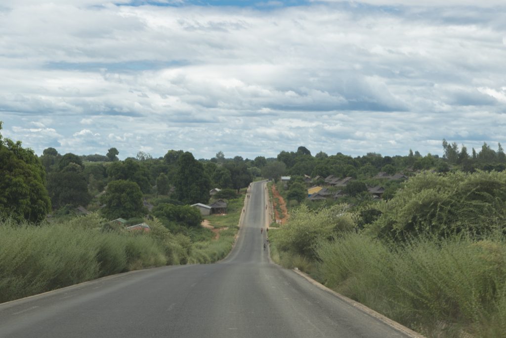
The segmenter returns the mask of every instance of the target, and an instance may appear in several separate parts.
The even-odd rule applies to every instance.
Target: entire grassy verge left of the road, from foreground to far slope
[[[111,229],[96,213],[37,227],[1,222],[0,303],[120,272],[220,260],[234,243],[243,200],[209,217],[215,228],[228,227],[218,240],[207,229],[175,235],[157,219],[145,219],[148,233]]]

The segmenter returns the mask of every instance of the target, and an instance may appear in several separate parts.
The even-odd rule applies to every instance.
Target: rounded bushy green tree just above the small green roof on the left
[[[101,196],[100,202],[105,204],[101,212],[108,219],[140,217],[147,212],[142,203],[139,185],[122,179],[107,185],[107,191]]]

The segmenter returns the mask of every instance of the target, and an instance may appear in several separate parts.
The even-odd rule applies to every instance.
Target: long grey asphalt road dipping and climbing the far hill
[[[212,265],[102,278],[0,305],[0,337],[406,337],[263,249],[265,183],[251,186],[237,243]]]

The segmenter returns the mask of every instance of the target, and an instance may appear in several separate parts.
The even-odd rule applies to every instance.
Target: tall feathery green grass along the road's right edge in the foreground
[[[429,336],[506,332],[506,243],[498,234],[387,247],[350,233],[317,252],[328,286]]]

